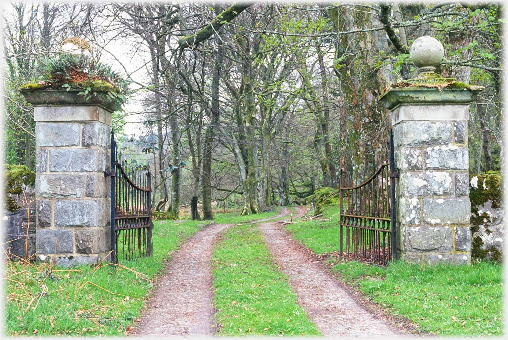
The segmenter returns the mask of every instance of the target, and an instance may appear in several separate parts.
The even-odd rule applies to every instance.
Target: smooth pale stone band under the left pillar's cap
[[[111,112],[99,106],[36,106],[36,122],[98,121],[111,126]]]

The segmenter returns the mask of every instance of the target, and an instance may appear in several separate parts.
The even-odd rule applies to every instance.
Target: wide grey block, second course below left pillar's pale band
[[[97,149],[54,149],[49,152],[52,172],[104,172],[104,152]],[[101,161],[99,161],[101,159]]]

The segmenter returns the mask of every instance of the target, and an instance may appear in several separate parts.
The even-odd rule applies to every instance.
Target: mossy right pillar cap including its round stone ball
[[[434,73],[444,55],[441,43],[430,36],[420,37],[411,45],[411,60],[419,67],[420,74],[388,86],[377,100],[389,110],[400,105],[469,104],[483,86],[474,86],[443,78]]]

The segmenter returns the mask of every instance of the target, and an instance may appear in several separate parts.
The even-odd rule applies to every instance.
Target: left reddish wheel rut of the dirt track
[[[227,224],[211,224],[188,240],[157,280],[143,316],[131,332],[135,336],[212,335],[213,245]]]

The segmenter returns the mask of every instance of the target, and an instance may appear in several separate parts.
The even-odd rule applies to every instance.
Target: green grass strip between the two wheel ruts
[[[218,335],[320,334],[255,227],[228,229],[212,263]]]

